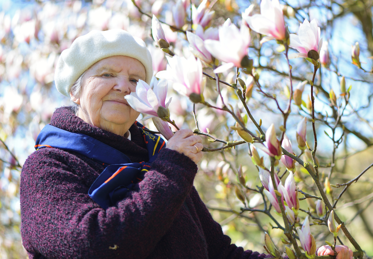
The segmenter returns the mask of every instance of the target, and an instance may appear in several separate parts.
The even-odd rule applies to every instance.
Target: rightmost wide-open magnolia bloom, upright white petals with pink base
[[[311,58],[314,60],[319,59],[320,50],[323,45],[323,39],[320,38],[320,27],[317,27],[315,19],[308,22],[304,19],[303,24],[300,24],[298,35],[290,34],[290,44],[300,53],[289,55],[291,58]],[[317,64],[316,64],[317,65]]]

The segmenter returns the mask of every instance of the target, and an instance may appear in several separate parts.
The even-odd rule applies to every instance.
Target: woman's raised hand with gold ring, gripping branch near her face
[[[167,142],[167,148],[178,151],[198,163],[203,157],[203,145],[200,136],[194,136],[190,129],[178,130]]]

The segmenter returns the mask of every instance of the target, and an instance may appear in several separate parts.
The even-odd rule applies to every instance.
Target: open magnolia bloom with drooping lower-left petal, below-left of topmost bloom
[[[219,27],[219,40],[205,40],[206,49],[215,58],[226,62],[214,70],[214,73],[221,73],[234,66],[248,66],[247,48],[250,44],[249,28],[241,25],[238,30],[228,18],[223,26]]]

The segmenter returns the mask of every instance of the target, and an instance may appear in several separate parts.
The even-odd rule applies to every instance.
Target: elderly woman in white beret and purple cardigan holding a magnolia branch
[[[193,187],[201,138],[179,130],[166,148],[136,122],[124,96],[152,75],[145,43],[123,30],[62,52],[56,87],[75,105],[56,109],[21,174],[30,259],[266,257],[231,244]]]

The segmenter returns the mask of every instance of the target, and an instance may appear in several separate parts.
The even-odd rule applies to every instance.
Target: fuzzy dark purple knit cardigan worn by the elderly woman
[[[148,159],[135,125],[132,141],[85,123],[69,107],[51,125],[83,133],[126,154]],[[29,258],[266,258],[231,244],[193,187],[197,165],[162,149],[143,181],[115,207],[102,209],[88,189],[104,167],[83,155],[41,148],[21,173],[21,235]]]

